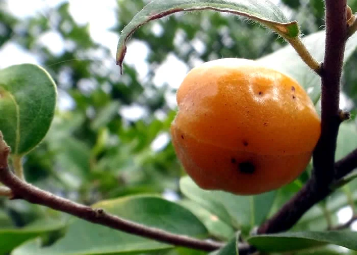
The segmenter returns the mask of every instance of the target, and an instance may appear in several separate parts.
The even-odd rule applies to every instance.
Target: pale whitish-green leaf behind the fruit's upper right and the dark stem
[[[317,61],[323,60],[325,52],[325,31],[320,31],[304,37],[302,42]],[[357,35],[353,35],[346,43],[344,62],[348,60],[356,47]],[[309,93],[314,104],[320,99],[320,77],[300,59],[292,46],[285,46],[257,61],[258,63],[277,69],[295,78]]]

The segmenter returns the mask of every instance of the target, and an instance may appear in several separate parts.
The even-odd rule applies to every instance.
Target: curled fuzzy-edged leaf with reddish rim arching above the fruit
[[[258,21],[285,38],[297,37],[296,21],[289,21],[283,12],[268,0],[154,0],[147,4],[123,29],[117,47],[117,64],[122,67],[126,42],[141,25],[181,11],[214,10]]]

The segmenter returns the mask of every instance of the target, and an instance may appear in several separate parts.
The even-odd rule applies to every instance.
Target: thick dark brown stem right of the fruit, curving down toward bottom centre
[[[321,68],[321,137],[314,150],[311,179],[271,219],[259,234],[288,230],[317,202],[328,196],[336,179],[335,150],[340,118],[340,79],[347,38],[346,0],[326,0],[325,58]]]

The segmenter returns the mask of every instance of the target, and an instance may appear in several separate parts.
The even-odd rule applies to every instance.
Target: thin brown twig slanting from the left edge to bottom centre
[[[164,243],[184,246],[192,249],[213,251],[224,246],[224,243],[203,241],[182,235],[175,235],[158,228],[147,227],[129,220],[108,214],[103,209],[92,209],[68,199],[56,196],[25,183],[13,174],[7,164],[9,149],[0,152],[0,182],[13,192],[13,199],[24,199],[37,205],[46,206],[61,212],[71,214],[95,224],[104,225],[125,233],[155,239]]]

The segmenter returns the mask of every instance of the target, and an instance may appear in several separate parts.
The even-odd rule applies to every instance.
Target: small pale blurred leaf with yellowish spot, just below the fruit
[[[232,226],[223,222],[220,218],[200,206],[198,203],[192,200],[183,199],[180,201],[180,205],[186,207],[196,215],[196,217],[205,224],[212,236],[222,240],[228,240],[234,235]]]

